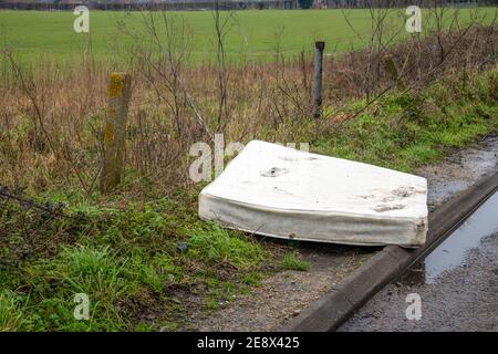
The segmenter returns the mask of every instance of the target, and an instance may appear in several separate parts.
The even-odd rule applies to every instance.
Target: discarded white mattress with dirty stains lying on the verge
[[[424,244],[427,181],[250,142],[199,196],[199,217],[251,233],[347,244]]]

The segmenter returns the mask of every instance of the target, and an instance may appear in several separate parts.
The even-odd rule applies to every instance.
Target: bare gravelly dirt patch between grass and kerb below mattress
[[[225,309],[194,321],[196,331],[271,331],[298,315],[310,302],[336,285],[362,264],[373,249],[304,243],[300,256],[310,270],[282,271],[262,281],[261,285]],[[195,317],[196,315],[194,315]]]

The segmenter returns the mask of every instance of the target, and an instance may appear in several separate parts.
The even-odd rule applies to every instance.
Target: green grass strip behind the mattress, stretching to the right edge
[[[393,93],[322,134],[311,147],[319,154],[413,173],[436,163],[449,148],[498,129],[497,87],[494,70],[475,75],[466,88],[453,75],[419,94]]]

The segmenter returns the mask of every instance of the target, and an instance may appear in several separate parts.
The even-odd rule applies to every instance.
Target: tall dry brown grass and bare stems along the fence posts
[[[211,144],[215,133],[224,133],[227,143],[300,142],[334,129],[338,122],[354,117],[351,100],[366,98],[367,105],[393,88],[392,77],[382,70],[386,54],[414,91],[447,72],[466,75],[496,65],[498,59],[495,23],[326,56],[324,117],[317,121],[311,117],[311,58],[276,53],[272,63],[188,65],[188,35],[178,32],[181,28],[149,25],[148,41],[142,37],[128,58],[133,98],[123,189],[141,195],[190,185],[189,147]],[[169,31],[170,40],[155,38],[159,30]],[[46,60],[35,69],[21,66],[7,50],[0,58],[0,183],[92,194],[102,165],[112,67],[87,56],[69,65]]]

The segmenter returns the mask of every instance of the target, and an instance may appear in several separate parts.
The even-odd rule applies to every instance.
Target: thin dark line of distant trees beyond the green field
[[[490,6],[498,0],[436,0],[442,6]],[[434,6],[434,0],[0,0],[0,9],[72,10],[83,4],[100,10],[243,10]]]

